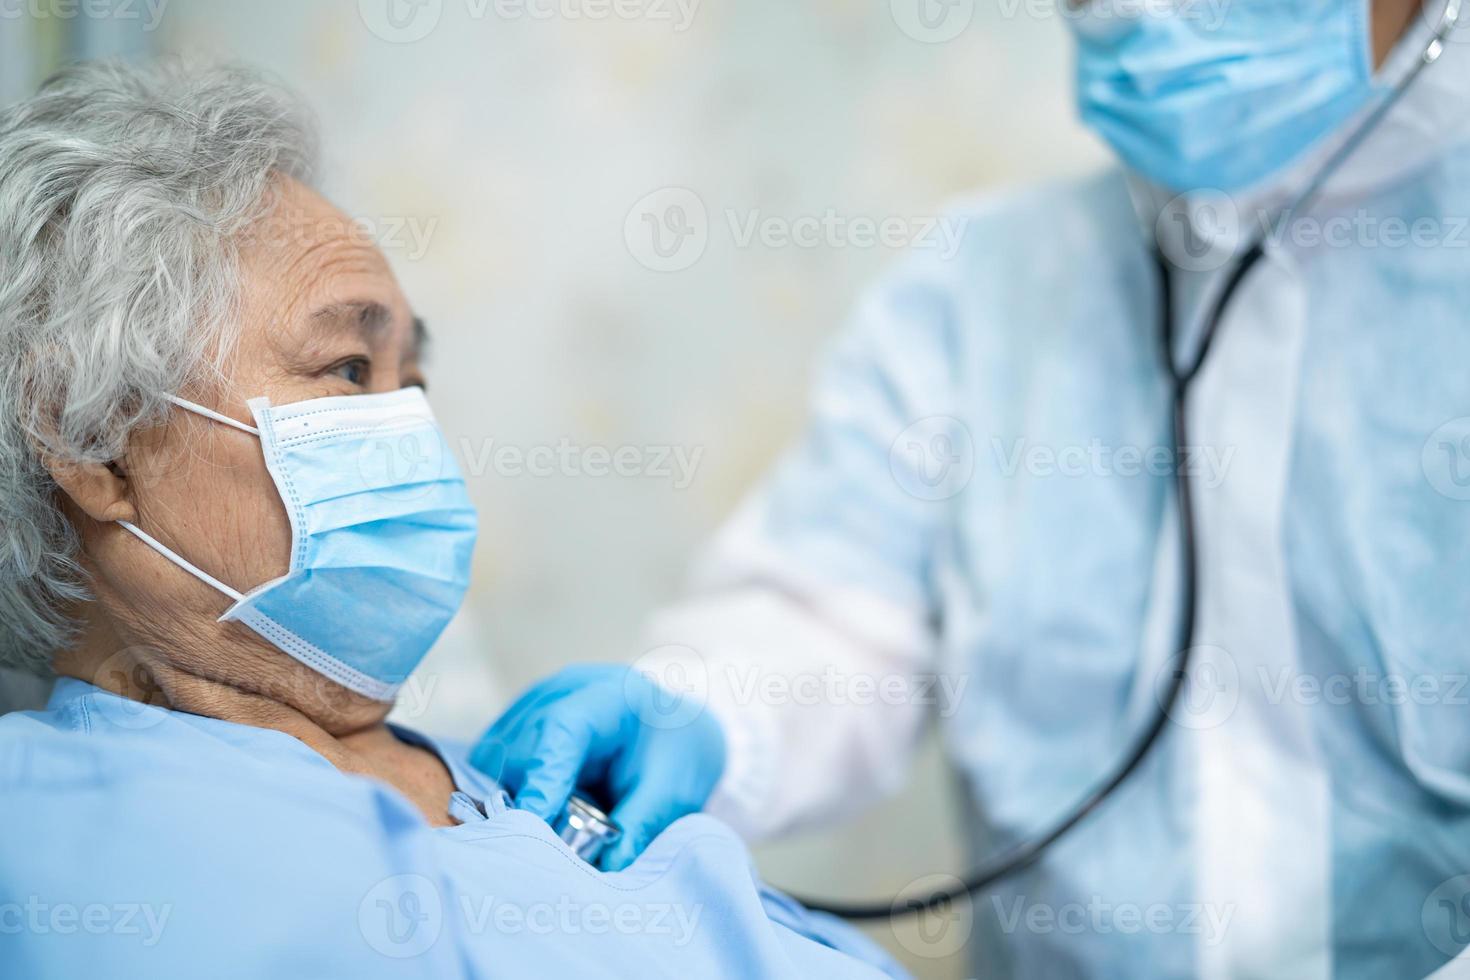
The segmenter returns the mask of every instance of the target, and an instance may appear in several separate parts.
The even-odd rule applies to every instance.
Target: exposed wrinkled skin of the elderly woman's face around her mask
[[[238,344],[225,383],[178,392],[251,422],[247,400],[285,404],[422,385],[422,326],[382,253],[350,219],[300,184],[282,184],[241,254]],[[256,436],[175,410],[140,433],[122,472],[137,523],[226,585],[248,591],[287,572],[291,529]],[[98,595],[128,636],[235,686],[322,716],[325,696],[362,720],[382,705],[348,695],[238,623],[229,601],[116,525],[94,527],[88,558]],[[141,638],[141,639],[140,639]]]

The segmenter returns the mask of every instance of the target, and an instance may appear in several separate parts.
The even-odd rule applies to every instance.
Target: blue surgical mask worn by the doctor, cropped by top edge
[[[1367,16],[1369,0],[1092,0],[1072,16],[1082,120],[1172,191],[1254,188],[1372,98]]]

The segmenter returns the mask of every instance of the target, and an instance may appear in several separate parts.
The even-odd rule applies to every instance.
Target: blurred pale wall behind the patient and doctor
[[[569,661],[639,652],[641,620],[798,430],[889,245],[956,194],[1102,159],[1050,0],[0,0],[0,101],[66,59],[169,51],[310,100],[329,195],[429,320],[482,536],[400,714],[463,738]],[[803,217],[841,231],[744,239]],[[872,244],[864,222],[907,231]],[[531,472],[506,447],[575,461]],[[637,475],[604,475],[594,447]],[[900,799],[757,857],[795,890],[879,896],[956,868],[953,824],[931,743]],[[963,976],[963,923],[870,932],[920,976]]]

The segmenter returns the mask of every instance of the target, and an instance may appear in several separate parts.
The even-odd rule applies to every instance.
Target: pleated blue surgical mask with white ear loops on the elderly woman
[[[150,548],[235,599],[244,623],[307,667],[391,701],[454,616],[469,585],[475,508],[420,388],[272,406],[256,425],[169,395],[260,439],[291,520],[285,574],[245,594],[141,529]]]

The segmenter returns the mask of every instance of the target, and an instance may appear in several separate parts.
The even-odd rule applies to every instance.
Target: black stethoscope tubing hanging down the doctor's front
[[[1439,26],[1435,29],[1433,37],[1429,44],[1424,46],[1423,54],[1420,54],[1414,68],[1408,75],[1394,87],[1383,101],[1367,115],[1367,118],[1358,123],[1352,134],[1342,143],[1335,153],[1332,153],[1326,163],[1323,163],[1311,182],[1297,194],[1292,201],[1283,207],[1273,222],[1273,228],[1283,228],[1294,215],[1314,203],[1317,194],[1322,191],[1327,178],[1342,166],[1342,163],[1357,151],[1367,135],[1377,128],[1379,122],[1389,113],[1389,110],[1398,103],[1398,100],[1408,91],[1408,88],[1419,79],[1420,73],[1439,60],[1441,54],[1445,51],[1445,43],[1458,22],[1461,13],[1463,0],[1448,0],[1445,4],[1445,12],[1441,16]],[[1189,400],[1189,389],[1192,388],[1195,378],[1198,378],[1200,370],[1205,364],[1205,359],[1210,356],[1210,345],[1220,331],[1220,322],[1225,319],[1225,313],[1230,306],[1230,300],[1235,297],[1245,276],[1257,266],[1257,263],[1264,257],[1264,241],[1266,237],[1257,237],[1250,248],[1247,248],[1239,262],[1236,262],[1235,269],[1230,270],[1225,287],[1220,289],[1219,297],[1210,307],[1210,311],[1204,320],[1204,329],[1200,336],[1200,342],[1195,348],[1194,357],[1180,364],[1179,351],[1176,350],[1179,338],[1175,334],[1176,317],[1173,310],[1173,285],[1169,262],[1164,259],[1157,242],[1154,247],[1154,260],[1158,264],[1158,284],[1160,284],[1160,334],[1163,339],[1163,360],[1164,370],[1172,382],[1172,413],[1173,413],[1173,450],[1175,457],[1180,447],[1189,445],[1189,428],[1186,417],[1186,403]],[[822,912],[831,912],[833,915],[841,915],[842,918],[853,920],[873,920],[873,918],[889,918],[897,915],[907,915],[911,912],[922,912],[936,908],[945,908],[950,902],[964,898],[967,895],[975,895],[986,887],[995,884],[997,882],[1007,879],[1032,864],[1035,864],[1047,848],[1055,843],[1063,835],[1082,823],[1088,814],[1102,805],[1108,796],[1113,795],[1123,782],[1133,774],[1139,763],[1148,755],[1148,752],[1158,742],[1158,738],[1164,733],[1169,726],[1169,718],[1175,702],[1179,698],[1180,691],[1183,691],[1185,680],[1189,673],[1189,658],[1191,645],[1195,632],[1195,616],[1198,613],[1198,579],[1200,579],[1200,554],[1195,535],[1195,510],[1194,510],[1194,495],[1189,485],[1189,478],[1185,472],[1186,467],[1175,467],[1175,488],[1177,497],[1179,508],[1179,538],[1183,551],[1182,574],[1183,582],[1182,589],[1182,613],[1179,619],[1177,632],[1177,646],[1179,651],[1177,663],[1170,671],[1167,685],[1158,692],[1158,711],[1152,716],[1148,726],[1138,735],[1132,748],[1123,755],[1123,758],[1108,771],[1107,776],[1098,780],[1098,783],[1088,790],[1070,810],[1063,813],[1047,830],[1038,833],[1036,836],[1022,840],[1013,848],[997,854],[988,862],[970,871],[958,883],[931,892],[925,896],[906,898],[900,896],[889,902],[826,902],[811,898],[797,896],[803,905],[814,908]]]

